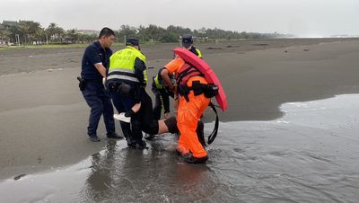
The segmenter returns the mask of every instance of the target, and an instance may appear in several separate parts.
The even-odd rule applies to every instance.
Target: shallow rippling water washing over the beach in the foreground
[[[359,202],[359,95],[281,110],[221,123],[206,165],[184,163],[173,136],[144,151],[109,141],[81,163],[0,182],[0,202]]]

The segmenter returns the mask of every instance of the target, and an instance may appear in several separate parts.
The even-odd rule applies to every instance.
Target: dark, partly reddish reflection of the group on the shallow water
[[[206,175],[209,168],[182,162],[168,139],[159,138],[144,151],[109,142],[101,153],[92,154],[92,171],[82,190],[84,200],[191,201],[210,196],[215,182]]]

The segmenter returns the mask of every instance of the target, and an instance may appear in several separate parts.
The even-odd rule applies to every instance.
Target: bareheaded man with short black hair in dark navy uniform
[[[109,66],[109,57],[112,50],[109,47],[115,39],[115,33],[109,28],[103,28],[99,40],[88,46],[83,53],[81,77],[83,78],[83,98],[91,108],[87,134],[92,142],[99,142],[97,127],[103,114],[107,137],[123,138],[115,132],[113,107],[109,93],[102,84],[106,77],[106,68]]]

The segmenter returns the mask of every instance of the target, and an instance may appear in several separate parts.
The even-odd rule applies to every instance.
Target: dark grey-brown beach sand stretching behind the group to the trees
[[[174,46],[144,46],[148,66],[163,66]],[[359,93],[359,40],[235,41],[198,47],[227,93],[230,107],[220,115],[224,122],[277,119],[285,102]],[[75,80],[82,54],[83,49],[0,51],[1,179],[78,163],[106,146],[102,121],[101,143],[86,136],[89,108]],[[211,113],[206,115],[210,121]]]

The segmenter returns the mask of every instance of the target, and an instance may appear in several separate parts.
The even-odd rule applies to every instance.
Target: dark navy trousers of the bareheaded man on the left
[[[107,134],[110,135],[115,132],[112,103],[109,93],[104,89],[103,85],[100,83],[87,83],[82,93],[84,100],[91,108],[87,134],[97,136],[96,131],[102,114]]]

